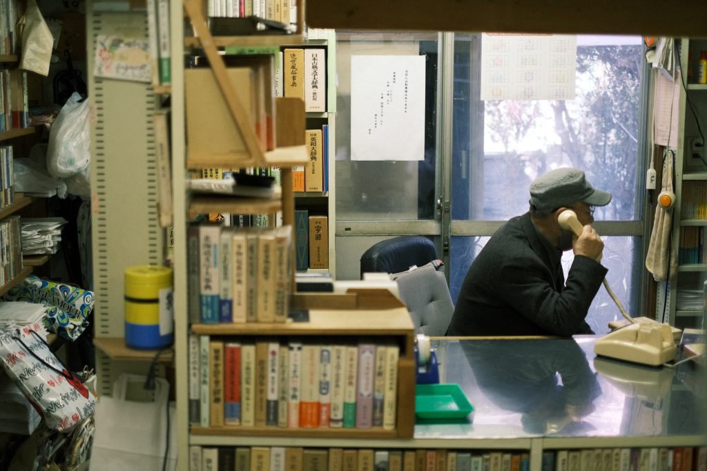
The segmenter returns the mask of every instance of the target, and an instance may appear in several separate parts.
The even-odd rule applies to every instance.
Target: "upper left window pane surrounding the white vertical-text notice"
[[[425,67],[425,156],[419,162],[351,160],[351,57],[421,55]],[[418,220],[435,216],[436,34],[337,32],[336,197],[338,220]]]

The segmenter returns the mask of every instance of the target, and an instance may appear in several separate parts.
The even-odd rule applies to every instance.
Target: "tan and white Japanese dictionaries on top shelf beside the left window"
[[[327,111],[327,54],[323,47],[288,47],[279,53],[275,94],[301,98],[305,112]]]

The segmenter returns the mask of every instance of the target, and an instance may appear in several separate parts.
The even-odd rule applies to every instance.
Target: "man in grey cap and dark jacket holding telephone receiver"
[[[530,211],[498,229],[469,267],[447,335],[593,333],[584,318],[607,269],[596,261],[604,243],[592,213],[611,200],[578,169],[537,177]],[[557,222],[566,209],[584,226],[580,237]],[[565,281],[560,258],[569,249],[575,258]]]

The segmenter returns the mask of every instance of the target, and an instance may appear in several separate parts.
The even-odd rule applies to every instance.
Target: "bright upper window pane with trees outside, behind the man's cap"
[[[567,166],[613,193],[597,220],[636,218],[640,38],[579,36],[575,100],[479,101],[478,43],[472,35],[455,40],[452,218],[525,213],[530,182]]]

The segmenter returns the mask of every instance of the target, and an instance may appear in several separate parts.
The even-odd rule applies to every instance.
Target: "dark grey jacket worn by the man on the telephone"
[[[447,335],[593,333],[584,318],[607,269],[575,256],[567,282],[530,213],[513,217],[469,267]]]

